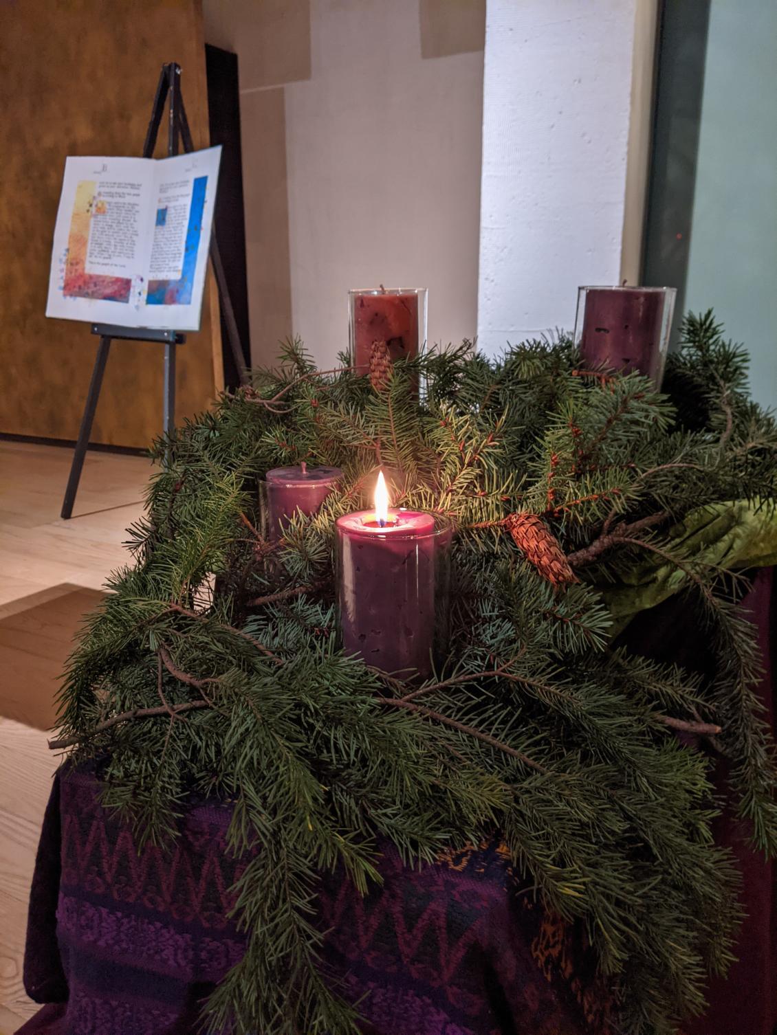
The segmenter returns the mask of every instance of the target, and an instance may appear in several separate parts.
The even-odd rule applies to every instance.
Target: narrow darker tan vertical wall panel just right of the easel
[[[252,358],[271,363],[292,332],[284,88],[240,94]]]

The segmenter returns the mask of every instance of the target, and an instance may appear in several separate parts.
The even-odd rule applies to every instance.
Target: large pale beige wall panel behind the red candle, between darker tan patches
[[[325,364],[349,288],[428,287],[430,341],[476,331],[483,53],[420,37],[419,0],[313,0],[285,87],[293,329]]]

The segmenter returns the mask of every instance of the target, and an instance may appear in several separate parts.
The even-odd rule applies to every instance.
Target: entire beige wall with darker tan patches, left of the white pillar
[[[428,286],[431,339],[471,336],[485,0],[203,0],[203,17],[238,55],[253,361],[293,332],[332,366],[365,284]]]

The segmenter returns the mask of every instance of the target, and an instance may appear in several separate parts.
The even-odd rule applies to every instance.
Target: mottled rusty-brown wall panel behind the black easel
[[[0,432],[74,439],[96,338],[44,316],[64,159],[140,154],[171,60],[195,143],[207,144],[201,0],[5,0],[0,17]],[[206,291],[202,329],[178,352],[178,418],[214,394],[215,323],[211,333]],[[162,373],[162,346],[115,343],[92,441],[147,445]]]

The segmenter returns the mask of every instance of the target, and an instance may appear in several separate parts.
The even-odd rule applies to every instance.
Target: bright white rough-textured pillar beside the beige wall
[[[638,0],[488,0],[479,344],[571,330],[617,284]]]

